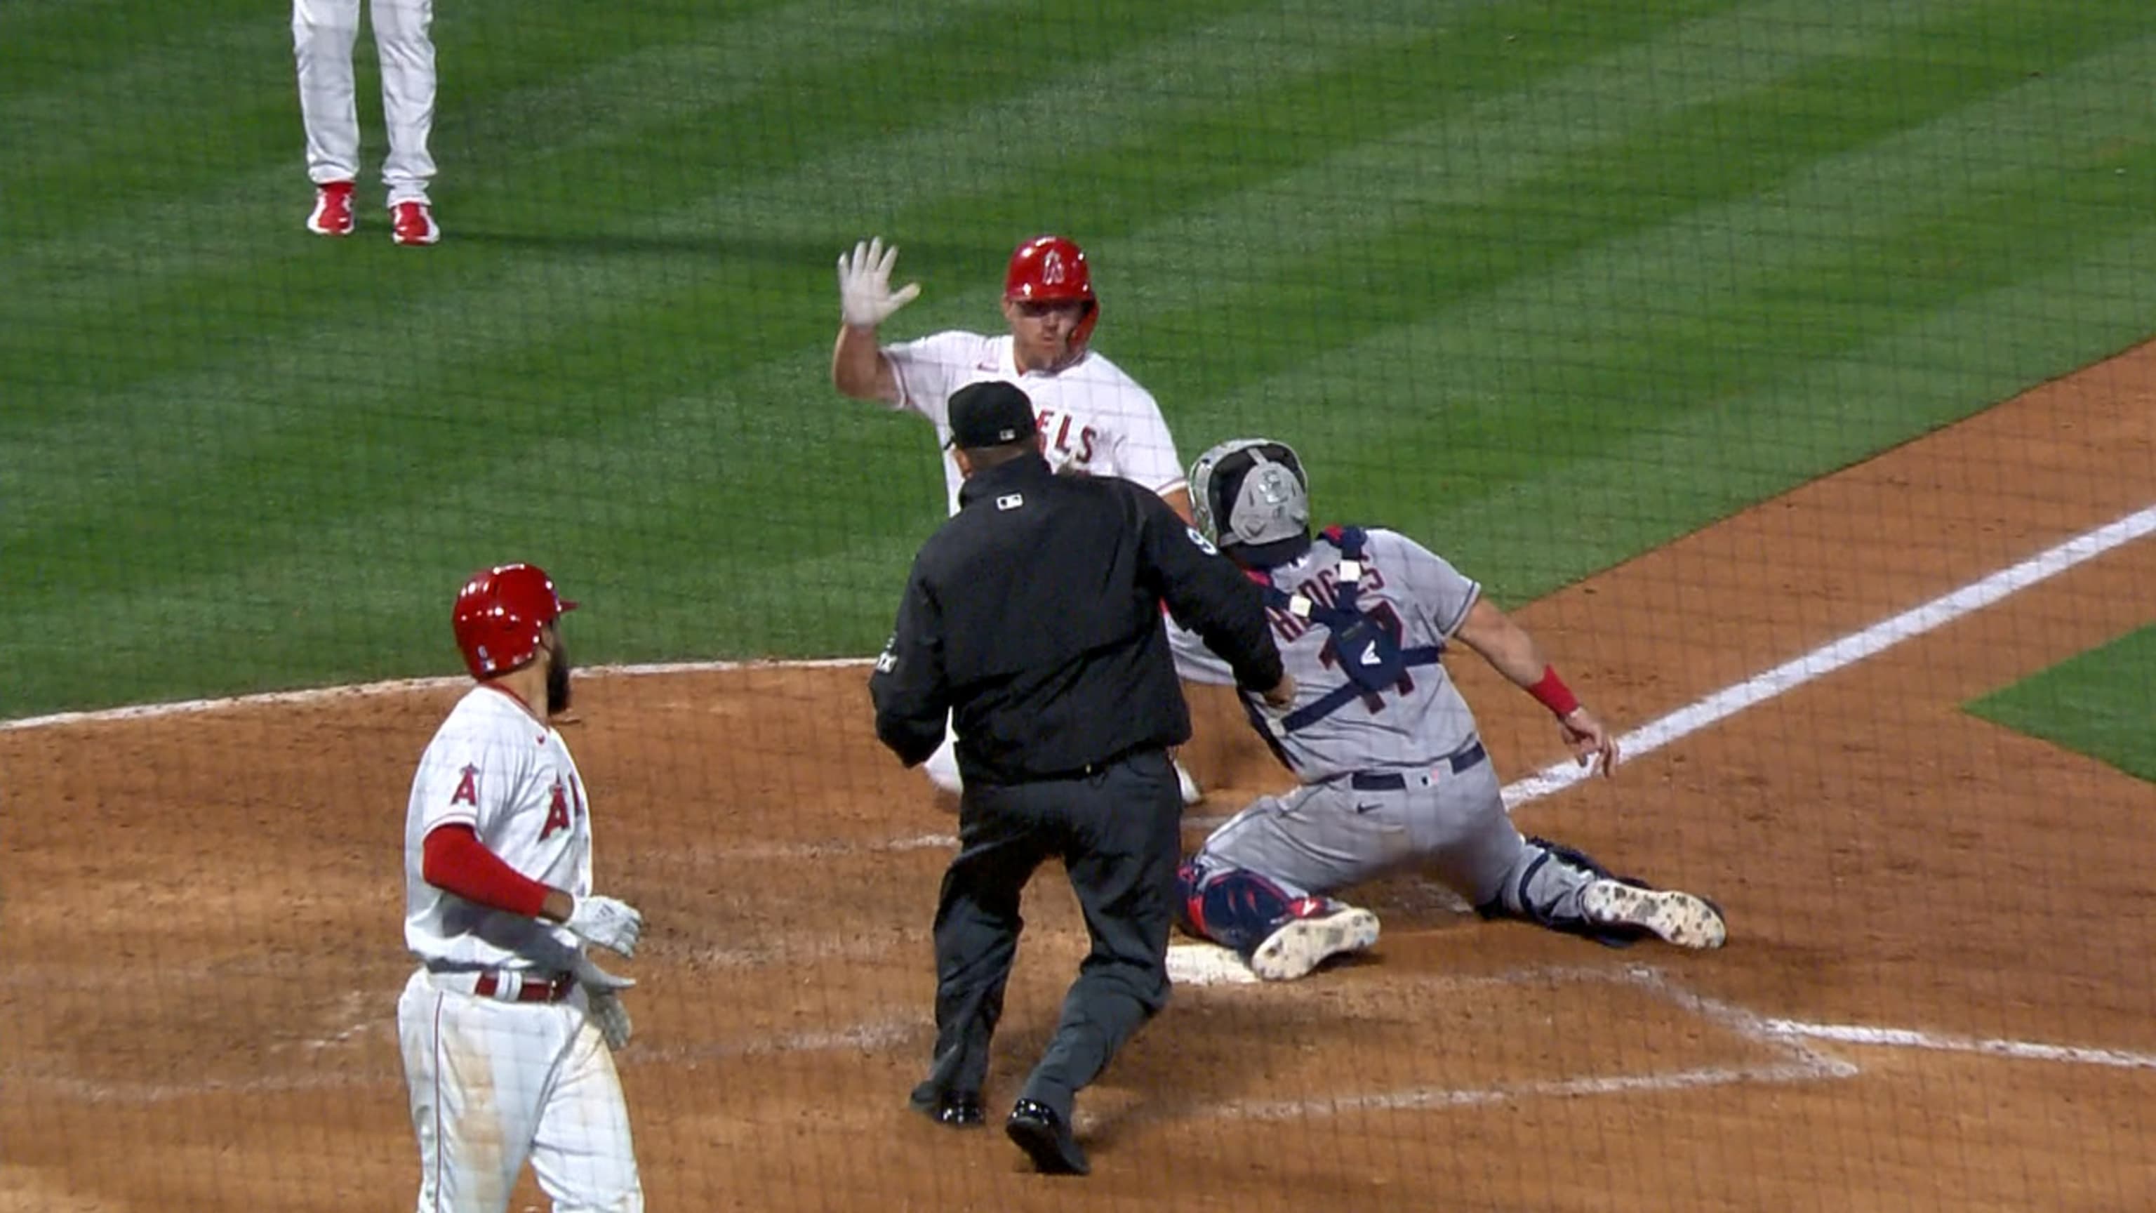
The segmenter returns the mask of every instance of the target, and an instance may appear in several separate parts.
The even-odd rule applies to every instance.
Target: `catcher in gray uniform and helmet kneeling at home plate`
[[[1617,740],[1565,689],[1535,639],[1442,557],[1376,527],[1311,535],[1309,479],[1285,442],[1242,438],[1190,468],[1199,529],[1268,600],[1296,701],[1244,695],[1253,727],[1300,779],[1229,818],[1177,881],[1181,928],[1233,948],[1268,980],[1309,973],[1378,941],[1378,915],[1330,894],[1429,872],[1483,917],[1623,945],[1656,935],[1720,948],[1705,898],[1613,876],[1587,855],[1522,837],[1496,764],[1440,656],[1453,641],[1542,701],[1583,766],[1617,768]],[[1177,667],[1233,682],[1171,632]]]

